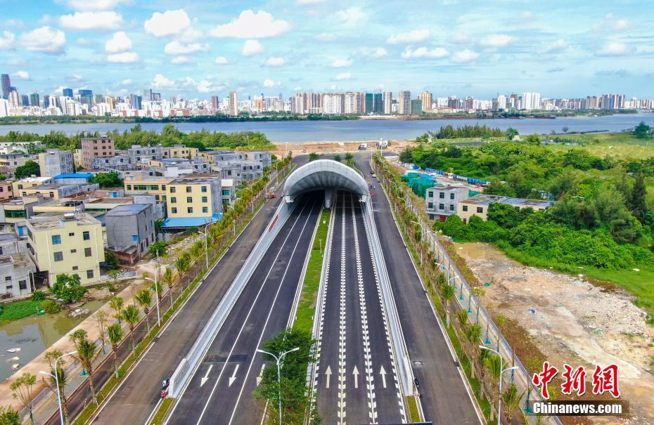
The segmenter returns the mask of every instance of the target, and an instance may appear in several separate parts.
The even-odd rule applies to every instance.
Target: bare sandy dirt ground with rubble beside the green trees
[[[591,370],[588,381],[597,364],[620,367],[621,398],[629,401],[631,418],[594,417],[594,423],[654,424],[654,327],[631,295],[594,286],[582,274],[522,266],[488,244],[455,246],[478,280],[491,283],[484,287],[484,305],[519,322],[559,370],[564,363],[584,365]]]

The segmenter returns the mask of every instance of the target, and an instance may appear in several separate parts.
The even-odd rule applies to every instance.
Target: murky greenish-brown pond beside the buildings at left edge
[[[82,308],[89,310],[91,314],[104,303],[106,300],[89,301]],[[31,315],[1,326],[0,381],[4,381],[15,372],[11,369],[11,365],[18,363],[22,367],[30,362],[87,317],[89,315],[70,318],[68,311],[61,311],[57,314]],[[7,350],[10,348],[20,348],[20,351],[8,353]],[[7,361],[16,356],[20,359]]]

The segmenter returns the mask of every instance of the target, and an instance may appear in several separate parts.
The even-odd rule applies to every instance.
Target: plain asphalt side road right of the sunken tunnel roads
[[[368,184],[376,187],[372,190],[375,221],[413,374],[421,383],[419,392],[425,420],[437,424],[480,424],[463,383],[461,368],[452,358],[428,295],[393,221],[390,204],[380,183],[370,175],[370,154],[355,158]]]

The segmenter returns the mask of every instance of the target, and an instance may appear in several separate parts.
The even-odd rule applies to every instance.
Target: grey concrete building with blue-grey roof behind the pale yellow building
[[[115,207],[105,214],[108,249],[141,259],[156,242],[155,211],[152,204]]]

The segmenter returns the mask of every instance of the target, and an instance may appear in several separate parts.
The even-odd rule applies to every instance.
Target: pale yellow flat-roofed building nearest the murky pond
[[[82,284],[98,282],[105,261],[102,224],[86,213],[29,218],[27,250],[50,285],[63,273],[79,275]]]

